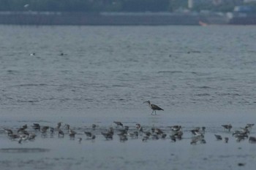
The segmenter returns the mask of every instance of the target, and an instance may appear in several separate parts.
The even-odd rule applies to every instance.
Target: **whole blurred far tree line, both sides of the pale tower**
[[[241,0],[220,5],[200,0],[194,10],[227,12],[240,4]],[[177,9],[187,9],[187,0],[0,0],[0,11],[173,12]]]

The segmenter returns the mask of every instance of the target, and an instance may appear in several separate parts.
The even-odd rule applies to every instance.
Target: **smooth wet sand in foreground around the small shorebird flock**
[[[148,111],[148,112],[145,112]],[[237,142],[233,131],[240,130],[246,123],[254,123],[253,112],[208,112],[201,113],[169,113],[129,110],[120,112],[118,109],[102,111],[91,109],[88,112],[62,112],[44,115],[26,112],[3,114],[0,130],[0,166],[1,169],[254,169],[256,166],[256,144],[248,139]],[[61,115],[61,116],[60,116]],[[143,142],[144,134],[137,138],[127,136],[127,141],[120,141],[118,129],[113,121],[121,121],[129,126],[129,131],[136,131],[136,123],[140,123],[144,131],[160,128],[167,134],[165,139],[152,139]],[[55,131],[48,131],[42,136],[39,131],[31,128],[33,123],[56,127],[62,122],[61,129],[65,136],[59,137]],[[70,139],[64,124],[76,131],[75,139]],[[91,129],[95,123],[97,128]],[[232,124],[231,131],[225,130],[223,124]],[[37,134],[33,141],[11,140],[3,128],[17,131],[27,124],[28,131]],[[181,125],[184,135],[181,140],[172,142],[170,139],[171,125]],[[192,133],[196,127],[206,127],[204,139],[206,144],[197,142],[190,144]],[[101,132],[110,127],[114,128],[112,140],[106,140]],[[87,139],[84,131],[91,131],[96,139]],[[217,141],[214,134],[224,139]],[[255,127],[249,136],[256,136]],[[79,142],[78,139],[82,138]]]

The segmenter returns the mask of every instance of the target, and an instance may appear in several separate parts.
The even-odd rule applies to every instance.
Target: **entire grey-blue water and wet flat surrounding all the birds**
[[[18,144],[0,131],[4,169],[251,169],[256,145],[216,142],[222,124],[255,123],[255,26],[0,26],[0,125],[72,127],[121,120],[206,126],[207,144],[41,139]],[[35,55],[30,55],[35,53]],[[143,101],[164,112],[151,116]],[[81,133],[83,131],[80,130]],[[255,136],[252,131],[252,136]],[[87,144],[85,144],[87,143]],[[227,147],[229,146],[229,147]],[[65,148],[65,149],[63,149]],[[83,150],[83,152],[80,152]],[[102,151],[103,150],[103,151]],[[138,152],[139,151],[139,152]],[[104,153],[102,153],[104,152]],[[25,155],[20,156],[20,155]],[[12,161],[14,160],[14,161]],[[111,164],[112,163],[112,164]],[[245,166],[237,166],[245,163]],[[21,166],[20,166],[21,165]],[[253,169],[253,168],[252,168]]]

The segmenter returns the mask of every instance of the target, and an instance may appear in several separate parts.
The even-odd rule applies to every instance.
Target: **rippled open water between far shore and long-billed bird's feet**
[[[0,37],[1,109],[255,109],[255,26],[1,26]]]

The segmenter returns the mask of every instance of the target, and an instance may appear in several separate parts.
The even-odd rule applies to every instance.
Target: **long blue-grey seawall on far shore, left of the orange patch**
[[[172,13],[0,12],[0,24],[15,25],[198,25],[198,20]]]

